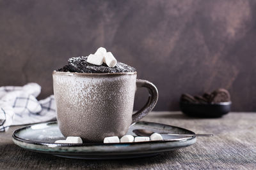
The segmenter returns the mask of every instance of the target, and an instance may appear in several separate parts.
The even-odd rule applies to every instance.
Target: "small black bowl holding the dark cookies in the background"
[[[217,118],[226,115],[231,110],[231,102],[194,104],[180,102],[180,110],[191,117]]]

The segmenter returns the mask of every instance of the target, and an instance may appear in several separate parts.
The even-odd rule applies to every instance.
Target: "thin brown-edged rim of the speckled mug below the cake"
[[[64,72],[64,71],[52,71],[52,74],[75,74],[77,76],[104,76],[104,75],[124,75],[124,74],[137,74],[137,71],[134,72],[122,72],[122,73],[77,73],[77,72]]]

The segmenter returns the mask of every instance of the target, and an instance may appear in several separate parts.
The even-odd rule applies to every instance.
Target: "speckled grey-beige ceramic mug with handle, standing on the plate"
[[[132,122],[156,105],[156,86],[136,80],[137,73],[68,73],[54,71],[53,89],[57,120],[64,136],[102,142],[107,136],[124,136]],[[148,101],[132,115],[136,89],[146,87]]]

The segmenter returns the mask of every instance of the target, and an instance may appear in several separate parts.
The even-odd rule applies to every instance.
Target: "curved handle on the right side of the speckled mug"
[[[139,111],[137,111],[132,115],[132,124],[134,122],[138,122],[138,120],[145,117],[150,111],[152,111],[158,99],[158,91],[156,89],[156,86],[153,83],[147,80],[137,79],[136,87],[137,89],[139,89],[140,87],[146,87],[148,89],[149,96],[145,106],[143,106],[143,108],[141,108]]]

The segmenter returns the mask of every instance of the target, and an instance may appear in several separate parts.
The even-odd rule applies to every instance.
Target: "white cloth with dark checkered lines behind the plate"
[[[34,124],[56,120],[54,97],[38,101],[41,87],[28,83],[23,87],[0,87],[0,132],[11,125]]]

